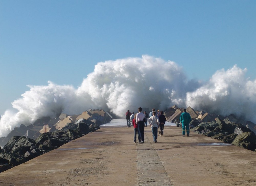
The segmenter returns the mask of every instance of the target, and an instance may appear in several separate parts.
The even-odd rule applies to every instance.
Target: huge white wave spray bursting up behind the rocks
[[[191,106],[222,115],[243,115],[255,122],[256,81],[246,79],[245,73],[246,69],[234,65],[217,71],[202,84],[187,80],[176,63],[148,55],[100,62],[77,89],[50,81],[47,86],[29,86],[30,90],[12,103],[16,111],[2,115],[0,136],[42,116],[79,114],[89,108],[111,110],[123,117],[127,109],[136,111],[138,107]]]

